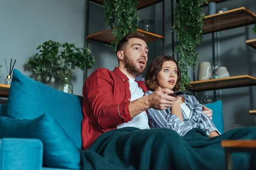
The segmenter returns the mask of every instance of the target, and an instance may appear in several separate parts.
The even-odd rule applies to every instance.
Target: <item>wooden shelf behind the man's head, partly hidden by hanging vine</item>
[[[96,34],[92,34],[87,36],[88,39],[93,40],[93,41],[97,41],[97,42],[102,42],[105,44],[110,45],[111,42],[114,40],[114,36],[111,33],[112,29],[107,29],[105,31],[101,31],[98,32]],[[153,34],[147,31],[143,31],[141,29],[137,29],[137,31],[142,32],[143,34],[145,34],[146,36],[146,42],[151,42],[151,41],[155,41],[158,39],[163,39],[163,36],[157,35],[157,34]]]

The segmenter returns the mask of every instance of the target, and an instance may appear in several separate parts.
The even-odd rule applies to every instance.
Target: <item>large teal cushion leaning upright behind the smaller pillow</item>
[[[82,89],[81,89],[82,90]],[[81,148],[81,96],[58,91],[14,69],[8,98],[8,117],[35,119],[50,113]]]

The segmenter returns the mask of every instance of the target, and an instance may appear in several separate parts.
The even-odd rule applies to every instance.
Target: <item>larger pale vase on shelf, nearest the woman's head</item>
[[[212,79],[212,68],[209,62],[200,62],[198,66],[198,80]]]

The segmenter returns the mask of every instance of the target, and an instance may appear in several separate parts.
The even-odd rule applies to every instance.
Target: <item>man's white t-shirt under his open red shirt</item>
[[[132,79],[128,77],[129,79],[129,85],[130,85],[130,91],[131,91],[131,102],[143,97],[144,92],[143,90],[139,87],[138,83],[135,82],[135,79]],[[137,127],[139,129],[149,129],[148,125],[148,116],[145,111],[141,112],[137,116],[134,116],[131,121],[127,123],[123,123],[121,125],[117,125],[117,128],[122,128],[122,127]]]

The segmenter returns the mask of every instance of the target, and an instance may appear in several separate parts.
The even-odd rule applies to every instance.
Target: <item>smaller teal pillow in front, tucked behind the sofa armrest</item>
[[[79,169],[80,152],[76,143],[48,113],[32,120],[1,116],[0,138],[40,139],[43,142],[44,166]]]

